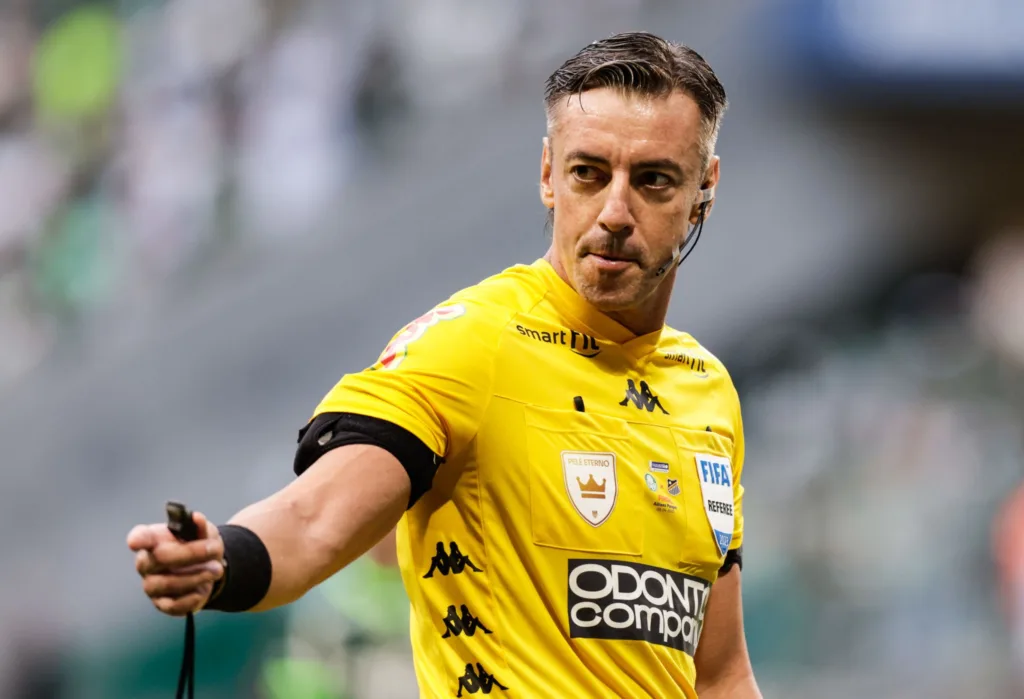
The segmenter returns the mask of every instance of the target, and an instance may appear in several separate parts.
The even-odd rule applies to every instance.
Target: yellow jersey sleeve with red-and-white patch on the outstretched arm
[[[459,452],[475,436],[490,395],[500,315],[472,300],[436,306],[398,331],[373,366],[343,377],[313,417],[379,418],[440,456]]]

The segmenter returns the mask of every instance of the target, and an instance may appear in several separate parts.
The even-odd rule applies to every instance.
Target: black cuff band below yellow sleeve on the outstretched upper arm
[[[346,444],[373,444],[391,453],[409,474],[409,506],[430,490],[444,460],[403,427],[354,412],[324,412],[299,430],[295,475],[301,476],[331,449]]]

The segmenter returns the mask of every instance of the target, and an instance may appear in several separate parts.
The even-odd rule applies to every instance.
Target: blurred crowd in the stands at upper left
[[[640,4],[3,3],[0,390],[83,334],[159,321],[232,246],[332,226],[404,115],[515,90],[584,5]]]

